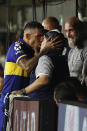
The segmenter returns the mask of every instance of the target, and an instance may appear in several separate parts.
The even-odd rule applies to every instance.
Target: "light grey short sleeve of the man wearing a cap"
[[[50,57],[44,55],[39,58],[37,67],[36,67],[36,78],[40,75],[48,75],[49,77],[52,76],[52,72],[54,69],[54,65]]]

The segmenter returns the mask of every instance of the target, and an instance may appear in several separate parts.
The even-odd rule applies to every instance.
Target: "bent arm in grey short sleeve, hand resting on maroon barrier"
[[[23,89],[24,93],[28,94],[48,85],[52,78],[53,68],[54,66],[51,59],[48,56],[42,56],[39,59],[39,62],[35,71],[37,79],[32,84],[30,84],[25,89]],[[12,93],[23,94],[21,90],[13,91]]]

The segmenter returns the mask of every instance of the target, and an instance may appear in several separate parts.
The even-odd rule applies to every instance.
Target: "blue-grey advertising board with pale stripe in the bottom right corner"
[[[60,103],[58,131],[87,131],[87,104],[69,101]]]

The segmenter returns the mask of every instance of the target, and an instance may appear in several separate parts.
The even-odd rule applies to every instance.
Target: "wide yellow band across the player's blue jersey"
[[[5,75],[28,77],[28,73],[24,71],[18,64],[13,62],[6,62]]]

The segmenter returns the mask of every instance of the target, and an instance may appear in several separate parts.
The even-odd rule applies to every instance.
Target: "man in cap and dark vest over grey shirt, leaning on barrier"
[[[33,99],[53,99],[55,86],[69,77],[68,63],[66,57],[62,55],[66,39],[57,30],[48,31],[40,48],[43,49],[46,39],[50,37],[53,40],[56,36],[62,40],[61,48],[41,56],[36,68],[30,73],[29,85],[24,89],[13,91],[13,94],[28,95]]]

